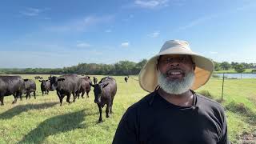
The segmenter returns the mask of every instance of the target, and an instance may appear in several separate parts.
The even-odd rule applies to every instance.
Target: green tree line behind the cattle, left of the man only
[[[79,63],[77,66],[63,68],[26,68],[0,69],[0,74],[86,74],[86,75],[135,75],[146,64],[140,62],[119,61],[114,64]]]

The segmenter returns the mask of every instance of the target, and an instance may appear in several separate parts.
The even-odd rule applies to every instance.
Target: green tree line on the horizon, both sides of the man
[[[146,64],[147,60],[140,62],[119,61],[114,64],[79,63],[77,66],[63,68],[25,68],[25,69],[0,69],[0,74],[87,74],[87,75],[136,75]],[[256,63],[245,62],[214,62],[214,69],[234,69],[242,73],[246,69],[256,69]],[[252,73],[256,70],[252,70]]]

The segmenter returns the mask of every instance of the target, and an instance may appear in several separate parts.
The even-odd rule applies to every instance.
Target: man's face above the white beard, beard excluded
[[[168,80],[182,80],[189,72],[194,72],[194,62],[188,55],[163,55],[158,60],[158,69]]]

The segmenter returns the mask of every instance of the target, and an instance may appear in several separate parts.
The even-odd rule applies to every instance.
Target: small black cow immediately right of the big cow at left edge
[[[25,94],[26,94],[26,99],[30,98],[30,93],[33,92],[34,94],[34,99],[35,97],[35,91],[37,90],[37,86],[35,82],[32,79],[24,79],[25,83]]]

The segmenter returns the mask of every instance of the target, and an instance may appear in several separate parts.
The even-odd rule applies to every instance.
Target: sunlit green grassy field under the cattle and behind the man
[[[49,75],[42,75],[47,78]],[[97,76],[98,79],[102,76]],[[22,75],[33,78],[34,75]],[[122,114],[128,106],[147,93],[138,85],[138,77],[130,77],[125,83],[122,76],[114,77],[118,82],[118,93],[114,98],[114,114],[98,124],[98,106],[94,93],[90,98],[80,98],[59,106],[56,92],[43,96],[38,80],[37,99],[33,97],[12,105],[13,96],[5,97],[5,106],[0,106],[0,143],[111,143]],[[256,79],[228,79],[224,87],[229,138],[232,143],[256,137]],[[209,92],[217,101],[221,98],[222,80],[211,78],[198,92]],[[203,92],[204,91],[204,92]],[[73,99],[73,97],[71,97]],[[255,139],[254,139],[255,140]],[[256,142],[256,141],[254,141]]]

